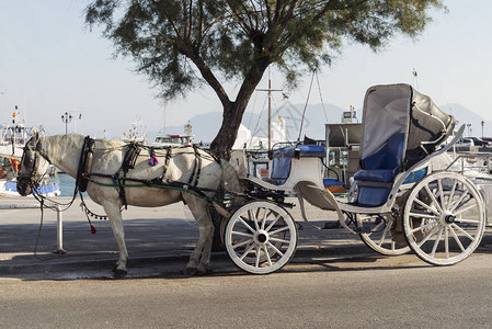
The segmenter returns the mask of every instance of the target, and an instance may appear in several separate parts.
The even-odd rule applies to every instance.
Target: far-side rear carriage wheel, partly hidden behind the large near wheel
[[[399,256],[410,251],[407,243],[397,243],[391,235],[393,217],[389,215],[356,215],[355,224],[366,232],[359,234],[363,242],[374,251],[385,256]],[[368,230],[368,231],[367,231]],[[402,239],[404,239],[402,237]]]

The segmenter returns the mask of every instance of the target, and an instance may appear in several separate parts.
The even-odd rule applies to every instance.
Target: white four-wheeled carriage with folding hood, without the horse
[[[285,265],[295,253],[298,234],[282,202],[283,195],[294,192],[305,220],[305,201],[335,212],[341,226],[359,234],[377,252],[412,250],[435,265],[462,261],[480,243],[485,208],[473,181],[447,167],[446,151],[465,128],[448,140],[454,126],[453,116],[410,86],[369,88],[364,101],[362,169],[346,202],[325,189],[321,146],[275,150],[270,180],[248,175],[245,158],[234,157],[249,189],[267,192],[274,202],[254,200],[230,216],[225,228],[227,252],[250,273],[271,273]],[[348,227],[351,219],[355,228]]]

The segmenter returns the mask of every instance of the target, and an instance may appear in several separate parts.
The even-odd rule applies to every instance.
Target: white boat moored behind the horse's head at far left
[[[24,123],[18,122],[18,116],[15,106],[11,123],[0,125],[0,196],[21,196],[16,189],[16,177],[21,170],[22,154],[25,143],[36,133],[33,127],[26,127]],[[39,183],[37,194],[60,195],[55,167],[49,167]]]

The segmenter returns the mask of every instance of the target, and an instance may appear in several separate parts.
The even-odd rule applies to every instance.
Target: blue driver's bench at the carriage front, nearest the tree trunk
[[[299,158],[324,158],[325,150],[320,145],[298,145],[274,150],[268,181],[276,185],[283,185],[290,174],[291,159],[297,156]]]

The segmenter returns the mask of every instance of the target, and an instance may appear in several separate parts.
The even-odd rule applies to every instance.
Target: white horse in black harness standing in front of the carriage
[[[91,140],[92,146],[88,147],[87,140]],[[126,275],[128,261],[122,207],[157,207],[183,201],[199,228],[199,239],[190,257],[186,273],[204,274],[209,264],[214,237],[210,201],[204,197],[213,197],[220,188],[242,192],[236,170],[228,162],[217,161],[204,150],[193,147],[172,148],[169,155],[168,149],[141,148],[139,155],[134,154],[126,161],[130,148],[131,145],[116,139],[89,139],[77,134],[38,137],[36,134],[24,148],[18,191],[21,195],[32,193],[32,188],[49,163],[78,178],[79,184],[85,179],[87,192],[92,201],[103,206],[118,245],[116,279]],[[83,149],[85,154],[82,157]],[[153,166],[149,160],[153,160]],[[126,170],[122,166],[126,166]],[[141,182],[152,182],[152,186]],[[130,188],[131,184],[139,186]],[[195,184],[198,191],[186,190]],[[193,191],[198,195],[187,193]]]

